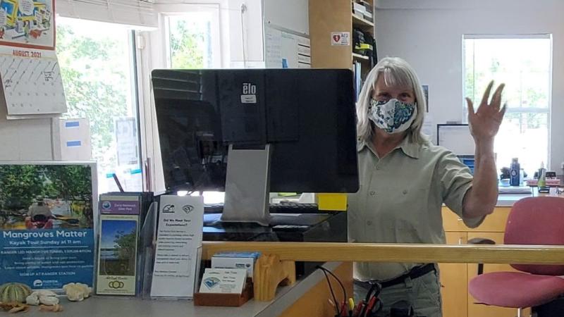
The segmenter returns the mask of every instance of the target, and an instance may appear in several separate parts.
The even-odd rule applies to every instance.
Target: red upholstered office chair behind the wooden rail
[[[503,243],[564,245],[564,199],[529,197],[517,201],[509,213]],[[564,265],[511,266],[520,272],[486,273],[473,278],[470,294],[482,304],[518,309],[517,316],[521,316],[522,308],[532,307],[535,312],[536,307],[546,308],[560,301],[564,278],[558,275],[564,275]],[[561,317],[560,309],[564,309],[563,304],[551,305],[551,312],[537,316]]]

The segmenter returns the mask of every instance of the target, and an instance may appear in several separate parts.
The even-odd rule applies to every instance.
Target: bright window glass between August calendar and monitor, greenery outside
[[[120,25],[57,19],[57,55],[68,112],[90,121],[99,192],[142,190],[131,31]]]

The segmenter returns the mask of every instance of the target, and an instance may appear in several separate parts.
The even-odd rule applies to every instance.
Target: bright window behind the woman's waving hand
[[[498,168],[518,158],[532,177],[541,162],[548,164],[551,46],[550,35],[463,39],[465,96],[479,104],[490,80],[505,82],[503,101],[508,109],[494,147]]]

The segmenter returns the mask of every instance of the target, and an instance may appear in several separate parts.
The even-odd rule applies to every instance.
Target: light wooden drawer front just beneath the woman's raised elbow
[[[487,216],[482,225],[472,229],[467,228],[462,219],[458,218],[448,207],[443,207],[443,227],[446,232],[505,232],[505,223],[507,222],[510,210],[511,207],[496,207],[494,213]]]

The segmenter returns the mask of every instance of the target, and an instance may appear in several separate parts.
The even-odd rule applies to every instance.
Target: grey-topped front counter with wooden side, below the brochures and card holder
[[[351,263],[329,262],[324,267],[333,271],[345,282],[349,291],[353,285],[353,266]],[[348,282],[346,281],[348,280]],[[341,289],[338,289],[341,298]],[[278,287],[276,297],[271,302],[250,300],[240,307],[194,306],[191,301],[157,301],[120,297],[92,297],[84,302],[61,300],[64,311],[61,313],[39,313],[37,307],[27,316],[46,317],[272,317],[272,316],[333,316],[327,299],[330,297],[325,276],[314,271],[294,285]],[[328,314],[329,313],[329,314]],[[1,313],[0,313],[1,314]],[[7,314],[6,314],[7,315]],[[16,315],[14,315],[16,316]]]

